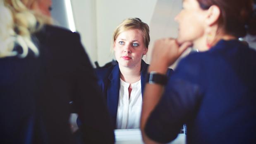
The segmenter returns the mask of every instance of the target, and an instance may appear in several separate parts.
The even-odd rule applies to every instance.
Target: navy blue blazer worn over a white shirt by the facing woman
[[[146,74],[148,64],[141,60],[141,93],[143,97],[144,86],[146,81]],[[170,77],[173,70],[168,69],[167,76]],[[120,69],[118,64],[110,66],[108,68],[96,69],[96,75],[98,76],[98,85],[100,90],[107,101],[108,110],[112,119],[112,124],[116,127],[117,119],[117,106],[120,90]]]

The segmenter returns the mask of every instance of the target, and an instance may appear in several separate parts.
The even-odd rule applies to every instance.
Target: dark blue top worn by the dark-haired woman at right
[[[220,40],[182,59],[145,132],[167,143],[187,124],[188,144],[256,143],[256,52]]]

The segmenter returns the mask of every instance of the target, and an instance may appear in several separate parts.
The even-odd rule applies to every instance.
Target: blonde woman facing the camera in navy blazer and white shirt
[[[118,64],[97,69],[98,84],[116,129],[139,128],[145,76],[142,57],[148,51],[149,28],[139,18],[122,21],[113,33],[113,50]],[[167,74],[170,75],[169,69]]]

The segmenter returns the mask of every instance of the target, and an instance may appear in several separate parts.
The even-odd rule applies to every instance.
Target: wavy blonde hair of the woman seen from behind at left
[[[40,30],[43,24],[51,24],[51,19],[28,9],[28,3],[35,0],[0,0],[0,58],[18,55],[27,56],[29,49],[39,55],[38,47],[31,40],[31,34]],[[19,45],[23,52],[14,51]]]

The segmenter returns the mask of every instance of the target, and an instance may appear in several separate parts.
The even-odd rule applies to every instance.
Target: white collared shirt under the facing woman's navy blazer
[[[139,128],[141,117],[142,95],[141,80],[132,84],[132,92],[129,99],[129,83],[120,78],[120,90],[117,107],[117,129]]]

